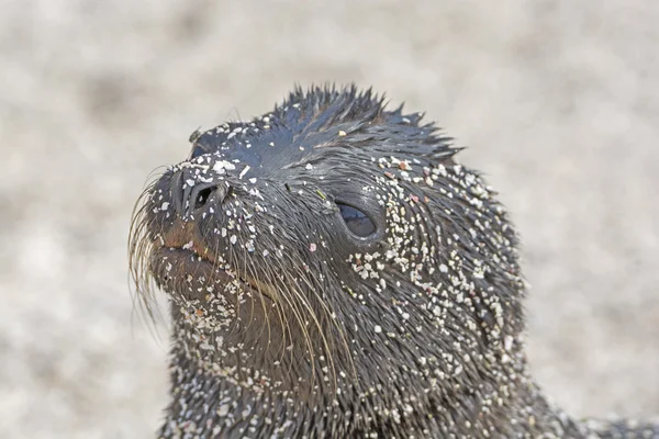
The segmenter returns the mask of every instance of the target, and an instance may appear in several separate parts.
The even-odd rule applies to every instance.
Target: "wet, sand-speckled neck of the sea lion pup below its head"
[[[176,333],[191,334],[188,325],[179,319]],[[269,378],[236,362],[239,352],[208,370],[190,346],[190,340],[175,340],[172,403],[159,437],[188,432],[223,438],[357,438],[371,437],[373,431],[420,438],[516,437],[521,431],[532,437],[588,437],[585,427],[546,401],[527,371],[520,369],[523,361],[515,363],[515,370],[496,371],[498,384],[478,390],[460,389],[447,380],[443,396],[427,401],[421,412],[414,399],[402,404],[383,398],[383,384],[376,382],[355,382],[338,394],[319,386],[309,392],[304,383],[272,392],[266,382]],[[505,391],[496,392],[496,385]],[[412,421],[412,414],[422,421]],[[474,434],[465,436],[465,431]]]

